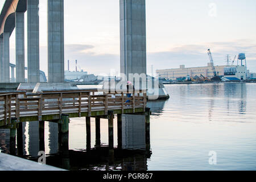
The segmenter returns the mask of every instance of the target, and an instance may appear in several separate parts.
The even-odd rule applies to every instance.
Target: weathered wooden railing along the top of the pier
[[[131,94],[129,94],[131,93]],[[43,115],[82,113],[91,116],[93,111],[101,111],[105,115],[109,110],[146,109],[146,90],[65,90],[57,92],[42,92],[28,94],[26,92],[0,94],[0,126],[10,125],[11,118],[37,116],[42,121]],[[59,118],[60,119],[60,118]]]

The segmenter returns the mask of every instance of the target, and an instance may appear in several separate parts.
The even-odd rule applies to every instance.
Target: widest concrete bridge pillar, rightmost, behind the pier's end
[[[119,0],[119,6],[121,73],[146,74],[145,0]]]

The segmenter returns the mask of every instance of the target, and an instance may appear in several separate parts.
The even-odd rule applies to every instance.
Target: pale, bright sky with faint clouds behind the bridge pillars
[[[4,2],[0,0],[0,7]],[[40,69],[47,74],[47,0],[39,2]],[[226,55],[233,60],[238,53],[246,53],[248,69],[256,72],[255,0],[146,0],[146,18],[150,75],[151,65],[153,72],[181,64],[205,66],[208,48],[215,65],[225,65]],[[64,0],[64,27],[65,69],[70,60],[74,71],[77,60],[79,70],[88,73],[119,72],[118,0]],[[15,30],[10,61],[15,63]]]

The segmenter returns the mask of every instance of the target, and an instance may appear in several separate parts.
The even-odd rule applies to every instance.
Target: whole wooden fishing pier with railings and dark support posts
[[[129,97],[129,95],[131,97]],[[96,118],[96,147],[101,145],[100,119],[108,119],[109,154],[114,152],[113,120],[117,114],[118,148],[122,147],[122,114],[145,115],[146,148],[150,148],[150,109],[146,90],[97,89],[0,93],[0,129],[10,129],[10,154],[22,156],[22,123],[39,121],[39,146],[44,151],[44,123],[59,126],[59,147],[68,150],[69,118],[85,117],[86,150],[90,150],[90,118]]]

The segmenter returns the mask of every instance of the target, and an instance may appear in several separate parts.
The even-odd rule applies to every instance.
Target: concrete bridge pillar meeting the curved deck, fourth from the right
[[[25,81],[25,39],[24,39],[24,13],[15,13],[16,27],[16,82]],[[12,70],[13,71],[13,70]],[[13,75],[12,75],[13,78]]]

